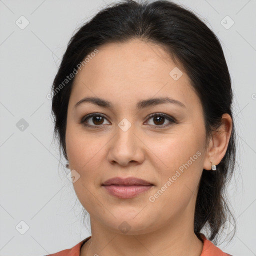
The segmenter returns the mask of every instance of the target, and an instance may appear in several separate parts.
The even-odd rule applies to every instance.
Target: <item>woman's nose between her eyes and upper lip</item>
[[[121,127],[121,126],[120,126]],[[107,159],[111,164],[126,166],[129,163],[139,164],[144,160],[143,143],[134,125],[127,130],[117,126],[116,134],[109,142]]]

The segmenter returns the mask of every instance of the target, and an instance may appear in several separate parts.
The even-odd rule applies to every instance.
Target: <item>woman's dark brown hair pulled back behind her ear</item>
[[[54,135],[59,141],[59,149],[62,149],[67,159],[65,129],[73,78],[56,91],[59,84],[66,75],[77,70],[77,64],[96,47],[134,38],[162,45],[173,61],[181,63],[203,106],[207,141],[212,131],[219,128],[223,113],[228,113],[232,118],[232,131],[226,153],[216,171],[203,169],[195,204],[195,234],[199,238],[200,230],[207,227],[208,239],[216,239],[228,217],[232,217],[233,221],[230,222],[235,226],[235,219],[225,198],[225,185],[235,167],[233,95],[221,44],[216,35],[192,11],[167,0],[143,3],[124,0],[100,10],[82,24],[68,42],[52,85]]]

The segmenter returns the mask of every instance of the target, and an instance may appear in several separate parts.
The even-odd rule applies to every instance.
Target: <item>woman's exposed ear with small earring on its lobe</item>
[[[232,118],[229,114],[222,114],[221,125],[217,131],[212,132],[207,152],[205,154],[203,168],[211,169],[212,164],[219,164],[224,157],[232,131]],[[212,163],[210,162],[212,161]]]

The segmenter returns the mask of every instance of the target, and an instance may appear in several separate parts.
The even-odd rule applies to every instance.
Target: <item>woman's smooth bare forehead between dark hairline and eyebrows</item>
[[[154,95],[187,103],[196,100],[185,70],[160,45],[131,40],[97,49],[75,76],[70,96],[73,104],[88,95],[122,103],[124,97],[137,102]]]

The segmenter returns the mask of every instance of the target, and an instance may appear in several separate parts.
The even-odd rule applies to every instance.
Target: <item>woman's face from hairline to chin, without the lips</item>
[[[68,102],[65,140],[75,193],[91,221],[118,233],[122,225],[129,234],[185,227],[193,221],[206,155],[199,98],[159,45],[132,40],[97,49],[76,74]],[[75,106],[84,97],[109,105]],[[181,103],[152,100],[166,97]],[[120,198],[102,185],[116,176],[153,185]]]

